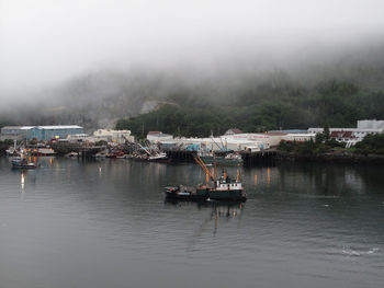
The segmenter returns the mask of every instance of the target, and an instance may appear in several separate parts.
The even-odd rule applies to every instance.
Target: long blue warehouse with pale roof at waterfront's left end
[[[1,128],[0,139],[11,140],[50,140],[67,138],[70,135],[83,134],[83,128],[77,125],[59,126],[5,126]]]

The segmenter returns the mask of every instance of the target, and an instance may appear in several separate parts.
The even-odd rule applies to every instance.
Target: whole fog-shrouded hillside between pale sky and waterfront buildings
[[[252,62],[210,72],[100,70],[46,89],[34,103],[11,105],[0,125],[78,124],[90,131],[123,119],[118,127],[136,134],[144,124],[145,131],[184,135],[235,126],[249,131],[354,126],[357,119],[384,118],[381,47],[269,71],[249,69]]]

